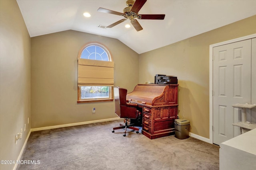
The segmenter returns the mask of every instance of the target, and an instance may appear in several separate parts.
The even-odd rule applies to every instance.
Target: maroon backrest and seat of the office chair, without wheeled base
[[[126,103],[127,89],[114,87],[115,113],[120,118],[136,119],[138,116],[137,108],[128,106]]]

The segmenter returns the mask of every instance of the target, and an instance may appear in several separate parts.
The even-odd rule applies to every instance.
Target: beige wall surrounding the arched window
[[[114,102],[77,104],[78,51],[92,41],[112,54],[114,86],[138,84],[138,53],[117,39],[72,30],[32,37],[32,128],[117,117]]]

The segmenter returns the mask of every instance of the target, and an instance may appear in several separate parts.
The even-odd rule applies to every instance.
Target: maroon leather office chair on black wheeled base
[[[138,115],[140,115],[140,111],[137,110],[137,104],[131,104],[126,101],[127,90],[125,88],[114,87],[114,96],[115,96],[115,113],[120,117],[125,119],[125,125],[120,124],[119,127],[114,127],[112,133],[115,132],[116,129],[124,130],[124,137],[126,136],[126,129],[133,129],[136,133],[139,133],[139,128],[134,127],[134,124],[128,125],[127,119],[137,119]]]

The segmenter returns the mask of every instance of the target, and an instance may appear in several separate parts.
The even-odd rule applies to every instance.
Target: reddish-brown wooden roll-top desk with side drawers
[[[178,84],[138,84],[126,95],[142,111],[142,134],[150,139],[174,135],[178,114]]]

